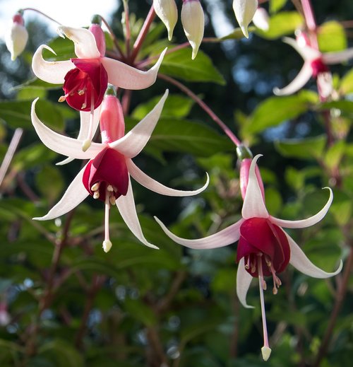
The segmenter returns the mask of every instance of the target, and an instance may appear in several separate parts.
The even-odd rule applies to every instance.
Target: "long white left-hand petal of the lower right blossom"
[[[217,247],[224,247],[230,245],[231,243],[237,242],[239,240],[239,228],[243,220],[237,221],[237,223],[232,224],[222,231],[215,233],[213,235],[208,235],[204,238],[198,238],[196,240],[187,240],[186,238],[178,237],[174,235],[169,229],[164,226],[164,224],[155,216],[155,220],[157,223],[162,227],[164,233],[174,240],[174,242],[179,243],[179,245],[183,245],[189,248],[196,248],[196,249],[209,249],[209,248],[217,248]]]

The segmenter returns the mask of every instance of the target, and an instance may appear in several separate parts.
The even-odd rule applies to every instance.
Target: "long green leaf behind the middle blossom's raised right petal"
[[[126,122],[129,128],[137,123],[131,123],[130,119],[126,119]],[[155,127],[144,152],[154,155],[155,150],[177,151],[207,157],[228,149],[234,149],[232,142],[204,124],[190,120],[162,118]]]

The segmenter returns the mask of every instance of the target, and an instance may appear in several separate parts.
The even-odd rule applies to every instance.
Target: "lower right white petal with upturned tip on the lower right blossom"
[[[287,235],[287,233],[286,233]],[[338,269],[333,273],[324,272],[319,267],[316,267],[304,254],[303,250],[294,242],[294,240],[287,235],[289,247],[290,247],[290,264],[292,264],[299,272],[309,275],[313,278],[329,278],[330,276],[337,275],[342,269],[342,260]]]

